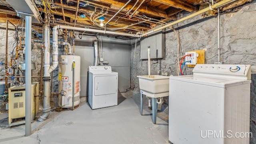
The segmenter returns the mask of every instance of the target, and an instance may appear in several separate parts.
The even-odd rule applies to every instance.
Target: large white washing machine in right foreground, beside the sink
[[[193,75],[170,76],[169,141],[249,144],[250,78],[250,65],[228,64],[197,64]]]

